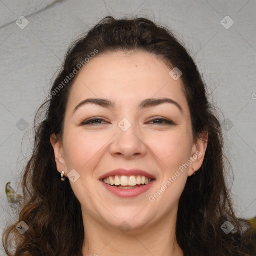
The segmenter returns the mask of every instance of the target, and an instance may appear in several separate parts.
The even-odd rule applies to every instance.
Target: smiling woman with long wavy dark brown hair
[[[6,252],[12,233],[14,255],[255,255],[220,123],[171,31],[106,17],[72,44],[47,97]]]

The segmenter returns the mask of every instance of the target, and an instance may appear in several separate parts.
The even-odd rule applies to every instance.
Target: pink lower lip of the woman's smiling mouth
[[[105,182],[103,182],[103,180],[101,180],[101,183],[109,192],[113,193],[114,195],[116,195],[118,197],[132,198],[132,197],[136,197],[136,196],[146,192],[153,185],[154,181],[155,180],[151,181],[147,185],[139,186],[136,188],[130,188],[130,189],[121,189],[118,187],[114,187],[114,186],[106,184]]]

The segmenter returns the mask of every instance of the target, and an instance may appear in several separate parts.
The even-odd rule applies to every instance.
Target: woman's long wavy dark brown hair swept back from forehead
[[[62,135],[66,103],[77,74],[68,81],[66,76],[74,70],[79,73],[80,63],[85,66],[84,60],[92,52],[116,50],[143,50],[160,57],[170,68],[178,67],[183,73],[182,89],[189,105],[194,140],[201,138],[204,131],[208,132],[202,166],[188,177],[179,199],[176,237],[184,255],[255,255],[250,222],[236,217],[233,211],[225,180],[221,125],[193,59],[169,28],[145,18],[116,20],[111,16],[72,43],[48,99],[36,113],[33,153],[22,180],[23,205],[17,222],[4,231],[7,254],[11,255],[9,249],[15,242],[16,256],[27,255],[26,252],[47,256],[82,255],[81,206],[69,180],[60,180],[50,136]],[[41,117],[42,114],[45,115]],[[15,230],[21,220],[29,226],[22,235]],[[221,229],[225,221],[234,226],[229,234]]]

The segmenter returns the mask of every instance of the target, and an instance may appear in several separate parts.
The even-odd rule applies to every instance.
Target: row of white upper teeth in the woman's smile
[[[136,186],[141,184],[147,185],[151,182],[151,178],[147,178],[145,176],[110,176],[104,178],[103,182],[111,186]]]

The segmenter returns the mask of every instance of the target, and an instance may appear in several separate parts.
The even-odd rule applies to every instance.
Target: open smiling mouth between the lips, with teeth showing
[[[146,186],[155,181],[155,179],[144,175],[114,175],[100,179],[100,181],[103,181],[106,185],[119,189],[135,189],[141,186]]]

